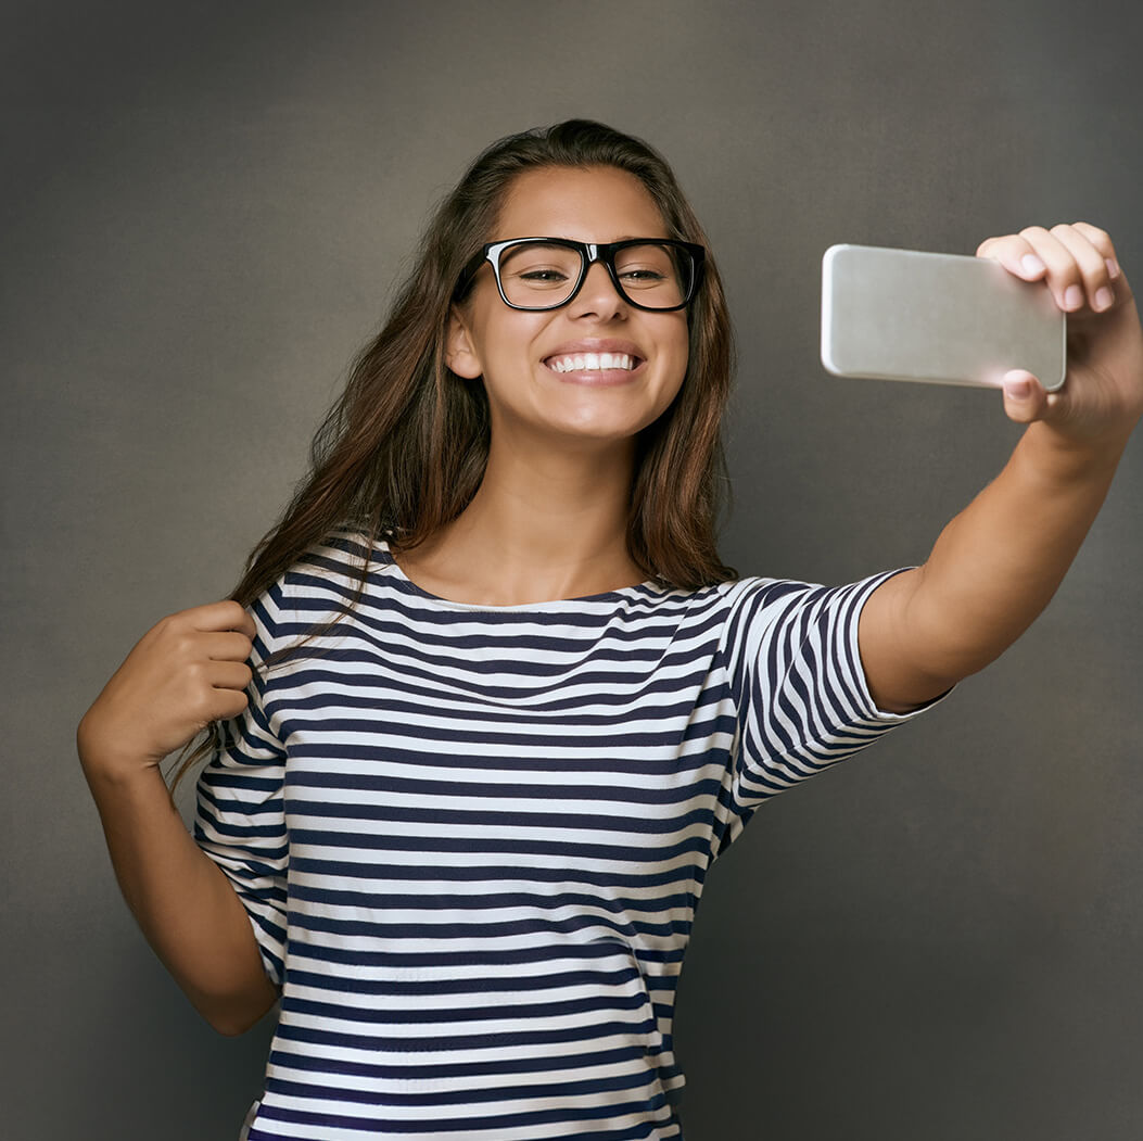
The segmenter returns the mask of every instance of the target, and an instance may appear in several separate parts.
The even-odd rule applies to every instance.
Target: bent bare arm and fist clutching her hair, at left
[[[77,734],[123,897],[186,996],[223,1034],[253,1026],[277,992],[238,895],[186,831],[159,763],[208,721],[246,707],[254,632],[237,603],[165,619]]]

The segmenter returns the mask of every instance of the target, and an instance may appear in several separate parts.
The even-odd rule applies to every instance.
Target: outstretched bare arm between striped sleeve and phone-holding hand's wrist
[[[1069,447],[1052,429],[1031,424],[1004,471],[944,528],[924,566],[874,595],[869,621],[881,637],[863,638],[862,649],[881,708],[936,696],[1028,629],[1098,513],[1124,442]]]

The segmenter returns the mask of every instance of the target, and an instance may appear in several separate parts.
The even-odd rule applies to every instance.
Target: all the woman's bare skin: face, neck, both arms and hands
[[[490,237],[613,241],[663,233],[638,181],[593,168],[521,176]],[[1034,377],[1009,374],[1005,412],[1028,429],[1008,464],[944,528],[924,566],[890,579],[866,603],[861,654],[885,710],[935,697],[1032,622],[1079,549],[1143,414],[1143,332],[1103,231],[1086,223],[1030,228],[990,238],[977,254],[1044,281],[1068,311],[1068,381],[1046,396]],[[561,346],[599,338],[634,344],[639,370],[600,386],[557,378],[544,364]],[[451,316],[447,359],[488,392],[488,471],[458,519],[402,556],[406,574],[433,593],[483,605],[639,582],[625,540],[634,436],[682,383],[685,314],[636,310],[599,265],[572,304],[518,312],[501,302],[485,269]],[[158,766],[210,720],[246,708],[254,635],[235,603],[163,619],[78,733],[123,895],[191,1000],[226,1034],[265,1013],[274,989],[241,903],[187,835]]]

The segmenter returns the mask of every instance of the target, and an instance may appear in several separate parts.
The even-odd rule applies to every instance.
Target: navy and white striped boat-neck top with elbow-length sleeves
[[[840,589],[485,607],[343,534],[253,607],[195,836],[281,1015],[249,1141],[681,1138],[676,983],[714,856],[879,712]]]

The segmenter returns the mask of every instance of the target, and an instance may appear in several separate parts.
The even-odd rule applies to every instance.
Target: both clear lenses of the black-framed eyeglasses
[[[567,301],[580,280],[583,257],[553,242],[509,246],[499,258],[504,296],[525,309],[547,309]],[[615,273],[629,301],[648,309],[676,309],[690,290],[690,255],[673,246],[646,242],[615,252]]]

